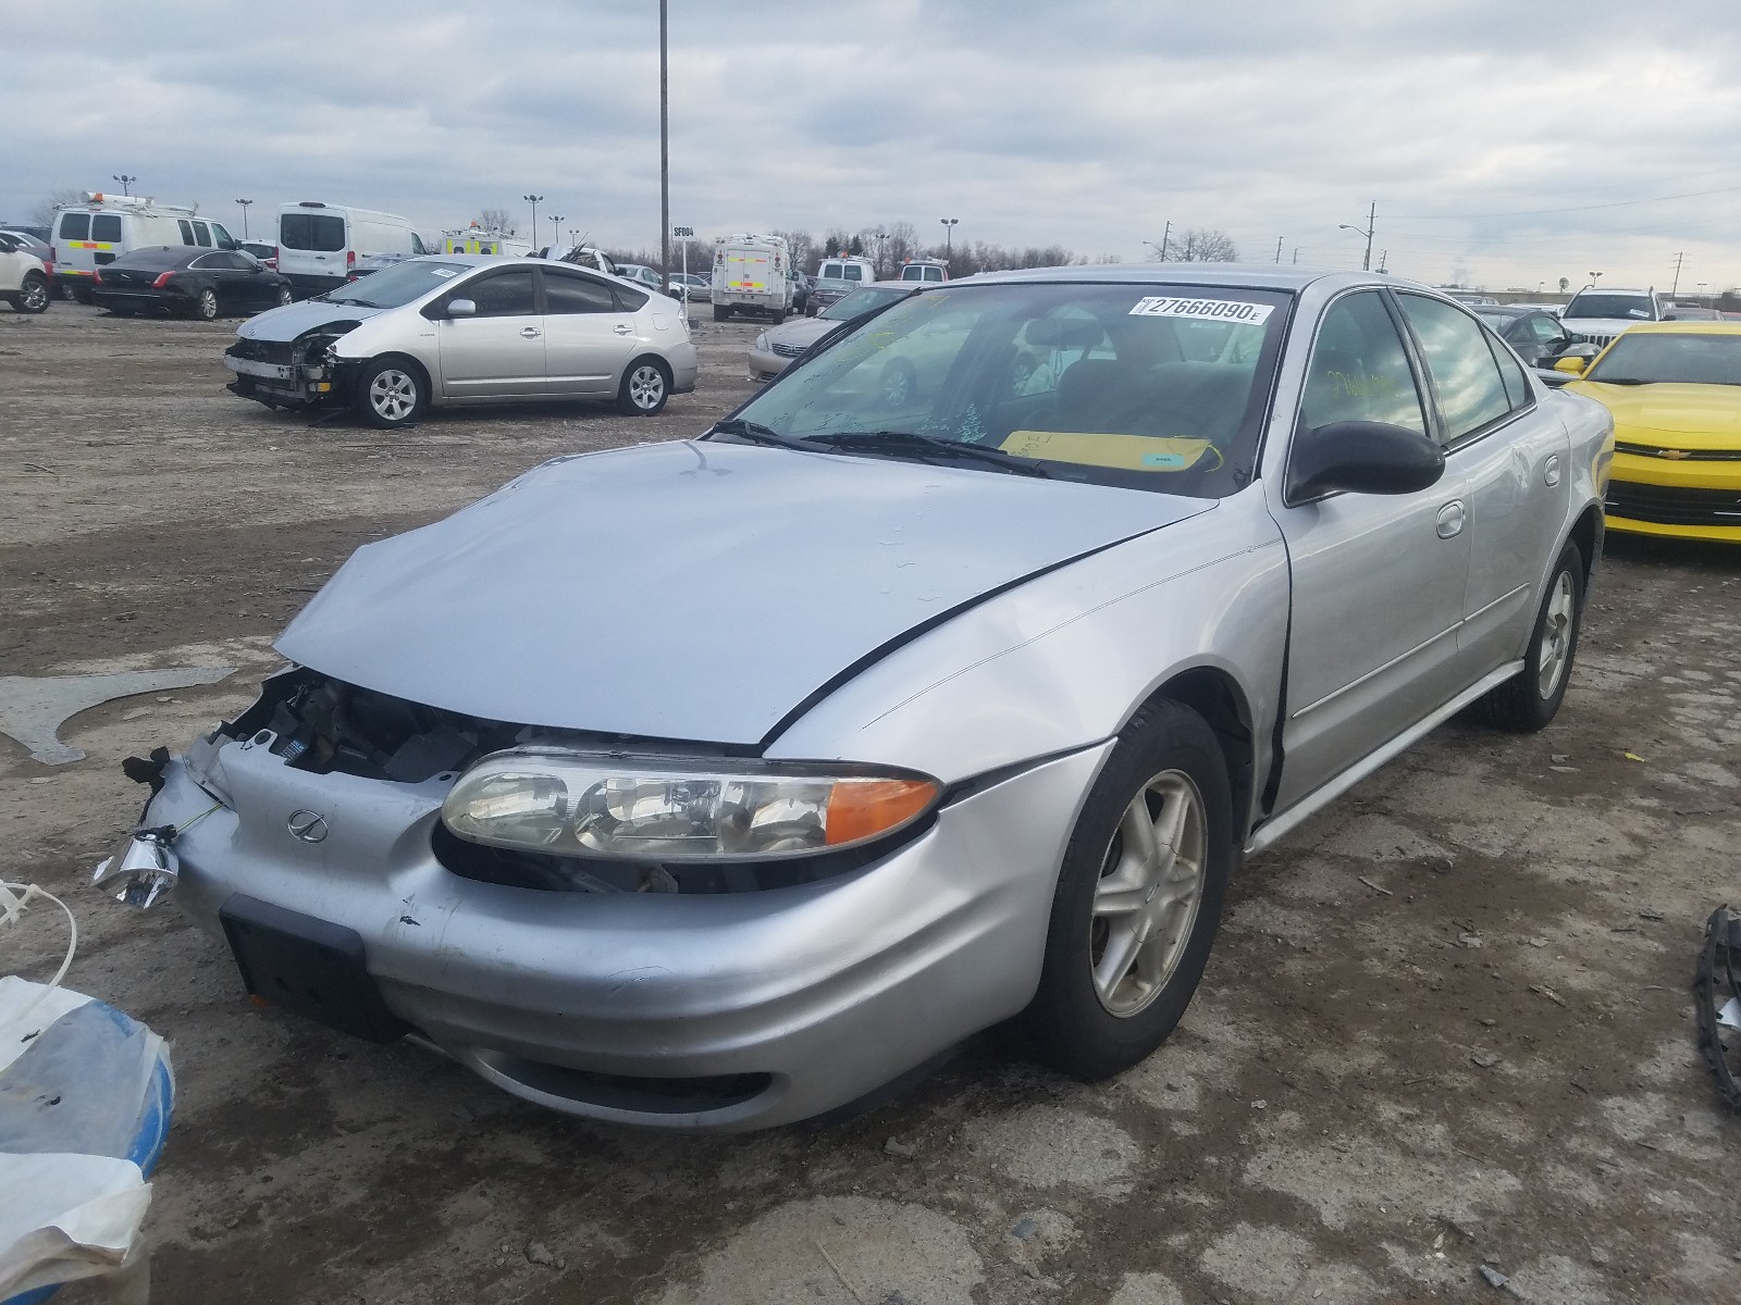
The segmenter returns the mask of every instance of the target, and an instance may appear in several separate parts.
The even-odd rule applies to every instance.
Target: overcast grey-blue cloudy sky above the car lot
[[[0,219],[118,172],[256,230],[481,207],[658,242],[655,0],[0,0]],[[911,221],[1140,261],[1741,282],[1736,0],[670,0],[672,221]]]

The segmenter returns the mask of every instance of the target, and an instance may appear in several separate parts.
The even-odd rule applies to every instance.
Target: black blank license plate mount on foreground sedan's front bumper
[[[225,901],[218,919],[242,983],[261,1000],[371,1042],[411,1032],[381,1000],[355,929],[242,893]]]

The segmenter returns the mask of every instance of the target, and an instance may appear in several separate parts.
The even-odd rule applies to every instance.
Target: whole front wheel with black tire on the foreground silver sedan
[[[1027,1049],[1095,1081],[1173,1032],[1203,978],[1234,861],[1215,731],[1161,701],[1125,727],[1083,804],[1052,900]]]

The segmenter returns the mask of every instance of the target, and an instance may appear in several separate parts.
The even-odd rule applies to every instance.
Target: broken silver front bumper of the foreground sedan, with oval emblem
[[[1107,746],[958,797],[843,873],[756,891],[456,873],[440,842],[454,771],[319,774],[272,729],[169,762],[145,823],[183,826],[176,901],[268,1000],[239,929],[312,934],[338,966],[322,983],[353,947],[355,1009],[327,1018],[348,1032],[421,1034],[569,1114],[743,1131],[858,1101],[1027,1004],[1062,839]]]

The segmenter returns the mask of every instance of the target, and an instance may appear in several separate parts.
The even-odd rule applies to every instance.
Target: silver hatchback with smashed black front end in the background
[[[651,416],[695,388],[682,304],[547,259],[414,258],[249,318],[230,388],[268,407],[350,404],[371,426],[430,405],[613,400]]]

